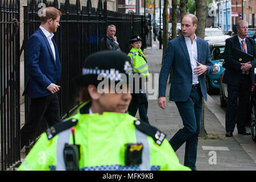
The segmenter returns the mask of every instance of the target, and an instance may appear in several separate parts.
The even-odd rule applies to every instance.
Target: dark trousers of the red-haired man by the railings
[[[57,122],[61,122],[57,93],[46,97],[31,98],[28,121],[20,130],[20,149],[25,146],[28,140],[35,133],[43,117],[46,118],[49,126],[55,125]]]

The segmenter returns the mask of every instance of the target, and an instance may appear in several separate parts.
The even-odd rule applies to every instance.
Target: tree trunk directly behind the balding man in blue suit
[[[204,39],[205,31],[205,21],[207,13],[207,1],[206,0],[195,0],[196,2],[196,17],[199,23],[197,23],[196,36],[199,36],[201,39]],[[201,117],[201,131],[199,137],[206,137],[207,132],[204,128],[204,98],[203,98],[203,111]]]

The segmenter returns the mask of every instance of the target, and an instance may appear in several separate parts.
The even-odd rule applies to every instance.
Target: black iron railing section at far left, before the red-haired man
[[[19,1],[0,0],[0,170],[20,160]]]

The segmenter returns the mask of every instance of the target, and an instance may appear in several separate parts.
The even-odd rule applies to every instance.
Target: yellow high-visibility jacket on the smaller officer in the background
[[[149,78],[150,75],[148,72],[148,64],[141,49],[131,48],[128,56],[130,56],[131,58],[131,65],[133,66],[133,71],[135,73],[143,74],[146,78]]]

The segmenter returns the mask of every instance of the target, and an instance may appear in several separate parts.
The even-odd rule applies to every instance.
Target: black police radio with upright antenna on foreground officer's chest
[[[71,129],[73,134],[73,144],[65,143],[63,156],[67,171],[79,171],[80,145],[75,142],[75,130]]]

